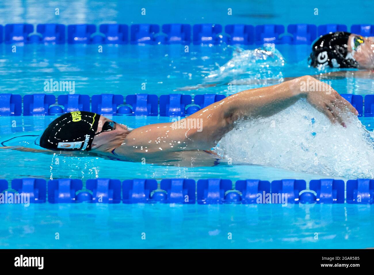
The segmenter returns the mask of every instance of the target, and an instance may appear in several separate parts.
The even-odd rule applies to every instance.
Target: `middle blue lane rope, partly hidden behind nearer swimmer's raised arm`
[[[359,113],[359,117],[374,116],[374,95],[341,94]],[[102,115],[131,114],[134,116],[186,116],[223,100],[221,94],[191,95],[169,94],[157,95],[135,94],[123,95],[101,94],[92,95],[91,111]],[[365,103],[365,106],[364,106]],[[56,105],[58,104],[58,105]],[[126,105],[126,106],[125,106]],[[365,107],[365,108],[364,108]],[[364,111],[365,110],[365,111]],[[53,115],[71,111],[90,111],[89,95],[59,95],[56,98],[50,94],[32,94],[23,97],[23,115]],[[16,94],[0,94],[0,116],[21,116],[22,97]]]

